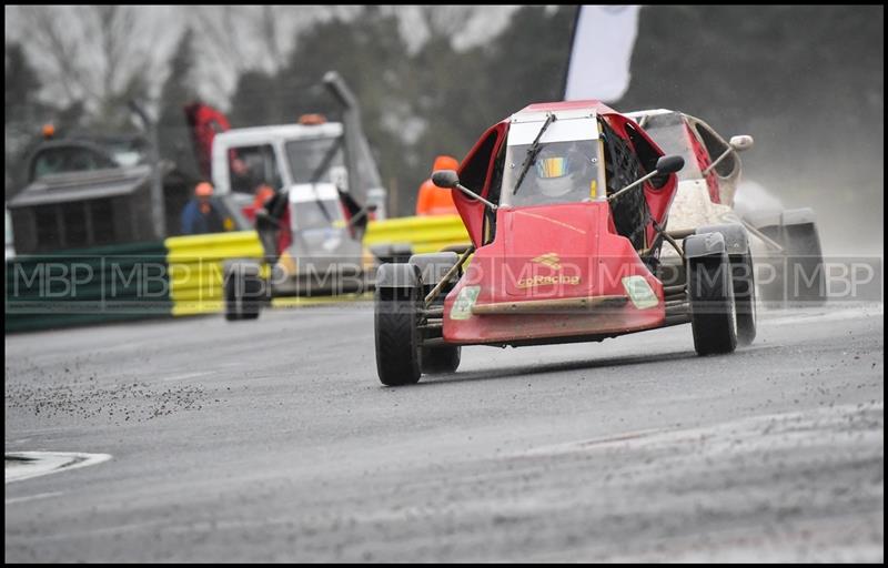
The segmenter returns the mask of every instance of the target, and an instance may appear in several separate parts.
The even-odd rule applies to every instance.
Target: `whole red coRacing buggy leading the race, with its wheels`
[[[453,190],[470,248],[376,273],[380,381],[455,372],[464,345],[593,342],[685,323],[700,355],[750,342],[746,230],[667,230],[683,164],[597,101],[532,104],[490,128],[458,171],[433,175]],[[660,257],[664,242],[678,254]]]

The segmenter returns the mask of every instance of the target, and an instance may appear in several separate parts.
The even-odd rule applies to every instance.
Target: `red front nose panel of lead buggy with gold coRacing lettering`
[[[613,232],[609,215],[609,207],[602,202],[498,210],[496,237],[475,252],[466,274],[444,302],[444,339],[455,344],[507,344],[606,337],[660,326],[665,318],[663,285],[632,243]],[[553,253],[557,260],[553,260]],[[451,317],[454,303],[466,286],[480,286],[475,305],[484,306],[626,296],[623,277],[633,275],[648,283],[657,297],[655,306],[639,310],[627,301],[620,306],[571,312]]]

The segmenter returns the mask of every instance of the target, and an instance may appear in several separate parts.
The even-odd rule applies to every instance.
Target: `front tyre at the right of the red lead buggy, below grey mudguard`
[[[737,318],[728,255],[723,252],[690,258],[687,278],[697,354],[733,352],[737,347]]]

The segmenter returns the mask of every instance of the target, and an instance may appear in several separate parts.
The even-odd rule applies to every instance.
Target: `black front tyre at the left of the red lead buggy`
[[[420,381],[420,306],[422,287],[376,288],[376,373],[387,386]]]

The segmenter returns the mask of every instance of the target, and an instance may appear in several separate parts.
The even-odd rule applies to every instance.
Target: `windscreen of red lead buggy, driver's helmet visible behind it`
[[[592,201],[606,192],[601,139],[541,143],[518,183],[532,144],[509,145],[503,164],[503,205],[526,206]]]

